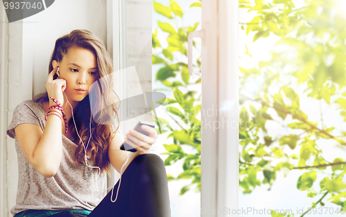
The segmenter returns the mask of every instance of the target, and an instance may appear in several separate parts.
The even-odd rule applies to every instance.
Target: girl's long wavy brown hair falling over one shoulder
[[[78,134],[84,146],[86,146],[89,140],[89,124],[91,124],[91,140],[86,150],[86,156],[93,162],[93,166],[100,167],[101,172],[107,171],[107,174],[110,175],[109,144],[120,126],[118,115],[120,98],[113,88],[113,61],[102,44],[102,41],[89,30],[73,30],[68,35],[64,35],[55,41],[55,47],[48,66],[48,73],[53,70],[53,60],[61,62],[64,55],[68,53],[69,48],[72,46],[90,50],[96,56],[98,85],[96,83],[91,85],[89,94],[73,109],[73,116]],[[55,74],[53,79],[56,78],[57,75]],[[47,92],[40,93],[33,98],[34,102],[48,100]],[[93,115],[90,118],[91,111]],[[85,164],[84,147],[82,142],[80,142],[75,127],[73,127],[73,118],[69,120],[68,124],[70,126],[69,132],[75,138],[73,142],[78,145],[75,150],[75,162],[78,165]]]

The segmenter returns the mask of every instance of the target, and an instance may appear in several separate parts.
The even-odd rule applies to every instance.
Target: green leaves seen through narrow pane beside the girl
[[[201,1],[192,3],[191,7],[201,7]],[[165,166],[170,166],[179,160],[183,161],[183,172],[176,177],[167,174],[167,179],[169,181],[192,179],[190,185],[181,189],[180,194],[182,195],[192,187],[195,191],[201,191],[201,120],[197,118],[201,111],[201,94],[190,90],[190,86],[200,85],[201,75],[196,75],[199,76],[199,79],[191,81],[187,62],[188,35],[196,30],[199,23],[194,23],[192,26],[175,26],[176,21],[181,23],[179,19],[189,9],[183,11],[173,0],[167,1],[165,4],[154,1],[154,10],[172,20],[172,22],[158,21],[157,23],[159,29],[153,33],[152,64],[159,64],[158,66],[161,67],[156,72],[156,81],[170,88],[174,95],[174,99],[167,98],[165,106],[169,120],[158,117],[158,124],[161,126],[162,133],[169,133],[167,138],[173,139],[173,144],[163,144],[167,151],[163,153],[167,155],[164,161]],[[165,37],[167,47],[161,46],[163,41],[158,40],[161,32],[168,33],[168,37]],[[181,62],[181,59],[185,59],[185,62]],[[201,68],[200,59],[201,57],[194,65],[197,68]],[[153,121],[156,122],[154,116]],[[174,129],[172,123],[178,125],[179,129]],[[184,146],[189,147],[189,151],[185,151]]]

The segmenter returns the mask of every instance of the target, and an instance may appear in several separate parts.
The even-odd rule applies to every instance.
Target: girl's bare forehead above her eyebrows
[[[91,50],[73,46],[62,58],[65,64],[77,64],[82,68],[97,67],[96,55]]]

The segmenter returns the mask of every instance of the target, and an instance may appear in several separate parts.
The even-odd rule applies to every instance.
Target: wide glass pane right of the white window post
[[[239,0],[239,216],[345,216],[345,3]]]

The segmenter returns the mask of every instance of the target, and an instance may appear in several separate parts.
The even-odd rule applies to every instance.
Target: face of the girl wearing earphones
[[[56,65],[59,66],[60,78],[66,80],[64,92],[68,100],[82,101],[88,95],[91,84],[98,79],[95,54],[90,50],[73,46],[61,62],[53,61],[53,67]],[[79,91],[80,89],[84,91]]]

